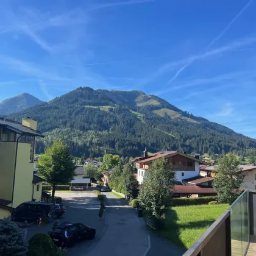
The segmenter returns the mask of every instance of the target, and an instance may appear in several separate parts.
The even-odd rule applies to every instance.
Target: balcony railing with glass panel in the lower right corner
[[[246,190],[183,256],[256,255],[256,190]]]

